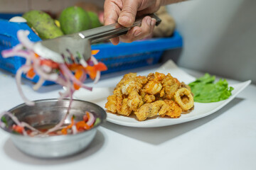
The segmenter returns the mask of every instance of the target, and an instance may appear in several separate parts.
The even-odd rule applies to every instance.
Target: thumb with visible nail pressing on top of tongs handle
[[[124,1],[123,8],[119,14],[118,23],[124,27],[130,27],[135,21],[139,1]]]

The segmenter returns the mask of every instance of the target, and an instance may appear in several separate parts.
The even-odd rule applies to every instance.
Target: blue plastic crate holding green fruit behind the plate
[[[30,31],[28,38],[33,42],[39,41],[41,38],[26,23],[9,22],[9,18],[13,16],[21,16],[21,14],[0,13],[0,68],[16,74],[18,68],[25,63],[25,60],[21,57],[4,59],[1,56],[1,50],[9,49],[18,44],[16,33],[21,29]],[[174,35],[169,38],[152,38],[132,43],[121,42],[119,45],[102,43],[92,45],[92,50],[100,50],[95,57],[107,65],[107,71],[102,72],[102,74],[107,74],[156,64],[159,62],[164,50],[179,48],[182,45],[181,35],[175,31]],[[38,77],[31,81],[37,82]],[[50,84],[53,84],[53,82],[46,81],[43,85]]]

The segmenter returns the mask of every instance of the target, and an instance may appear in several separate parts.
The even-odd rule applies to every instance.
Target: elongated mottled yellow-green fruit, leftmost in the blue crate
[[[57,38],[63,32],[55,25],[53,18],[43,11],[28,11],[23,14],[29,27],[34,29],[42,40]]]

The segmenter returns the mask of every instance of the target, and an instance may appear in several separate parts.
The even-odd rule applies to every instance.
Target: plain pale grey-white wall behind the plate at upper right
[[[179,66],[256,84],[255,0],[191,0],[168,10],[184,40]]]

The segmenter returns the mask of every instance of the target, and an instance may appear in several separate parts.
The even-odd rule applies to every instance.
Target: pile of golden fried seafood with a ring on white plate
[[[145,77],[129,73],[107,97],[105,108],[119,115],[134,114],[139,121],[156,116],[179,118],[193,109],[193,94],[171,74],[155,72]]]

